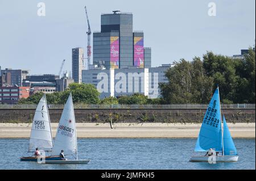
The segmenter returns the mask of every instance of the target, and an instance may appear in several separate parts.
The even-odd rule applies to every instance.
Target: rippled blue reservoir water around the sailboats
[[[20,162],[27,153],[28,139],[0,139],[0,169],[255,169],[255,139],[234,139],[238,162],[189,162],[196,139],[192,138],[80,138],[79,159],[88,165],[47,165]],[[204,154],[204,153],[202,153]]]

